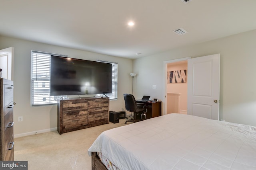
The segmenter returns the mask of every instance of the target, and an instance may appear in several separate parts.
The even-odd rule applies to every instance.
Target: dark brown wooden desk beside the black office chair
[[[146,109],[147,109],[146,119],[150,119],[152,117],[158,117],[162,115],[162,102],[154,102],[154,101],[153,102],[136,101],[136,102],[146,104]]]

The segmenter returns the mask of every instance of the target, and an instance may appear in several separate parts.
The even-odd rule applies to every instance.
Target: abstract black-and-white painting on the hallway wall
[[[186,83],[187,70],[177,70],[167,72],[167,83]]]

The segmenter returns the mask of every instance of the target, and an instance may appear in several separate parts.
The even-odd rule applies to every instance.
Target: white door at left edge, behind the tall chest
[[[12,80],[12,60],[14,48],[0,50],[0,68],[2,68],[2,77]]]

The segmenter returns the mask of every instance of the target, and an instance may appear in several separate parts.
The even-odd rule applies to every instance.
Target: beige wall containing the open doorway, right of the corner
[[[136,96],[164,101],[164,61],[220,53],[220,119],[256,126],[255,37],[253,30],[136,59]]]

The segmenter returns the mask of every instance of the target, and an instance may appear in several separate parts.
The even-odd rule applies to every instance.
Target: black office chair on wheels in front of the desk
[[[141,121],[142,117],[146,119],[146,104],[144,103],[136,103],[136,100],[132,94],[124,94],[124,102],[125,102],[125,109],[127,111],[133,112],[133,120],[127,120],[127,122],[136,122]],[[140,115],[140,120],[137,119],[138,115]]]

